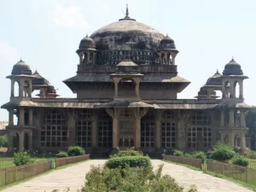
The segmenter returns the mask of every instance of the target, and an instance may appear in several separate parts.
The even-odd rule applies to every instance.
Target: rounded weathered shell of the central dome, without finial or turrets
[[[136,20],[119,20],[103,26],[90,38],[98,50],[154,50],[164,35]]]

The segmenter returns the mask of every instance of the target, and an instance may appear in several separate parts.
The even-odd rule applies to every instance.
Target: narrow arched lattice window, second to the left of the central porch
[[[79,113],[77,144],[83,148],[90,148],[91,146],[91,113],[86,109]]]

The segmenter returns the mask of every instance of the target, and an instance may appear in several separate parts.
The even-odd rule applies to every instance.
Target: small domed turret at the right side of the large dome
[[[160,41],[160,45],[157,49],[157,54],[160,58],[161,65],[175,65],[175,57],[178,53],[174,40],[166,35]]]

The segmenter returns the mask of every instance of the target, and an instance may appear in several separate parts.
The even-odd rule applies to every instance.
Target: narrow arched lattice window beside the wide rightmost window
[[[161,119],[162,148],[176,147],[176,121],[172,111],[166,111]]]

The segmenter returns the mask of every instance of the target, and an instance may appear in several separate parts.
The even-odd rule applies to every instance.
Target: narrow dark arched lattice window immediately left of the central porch
[[[98,116],[98,147],[112,148],[112,118],[106,112],[99,113]]]

